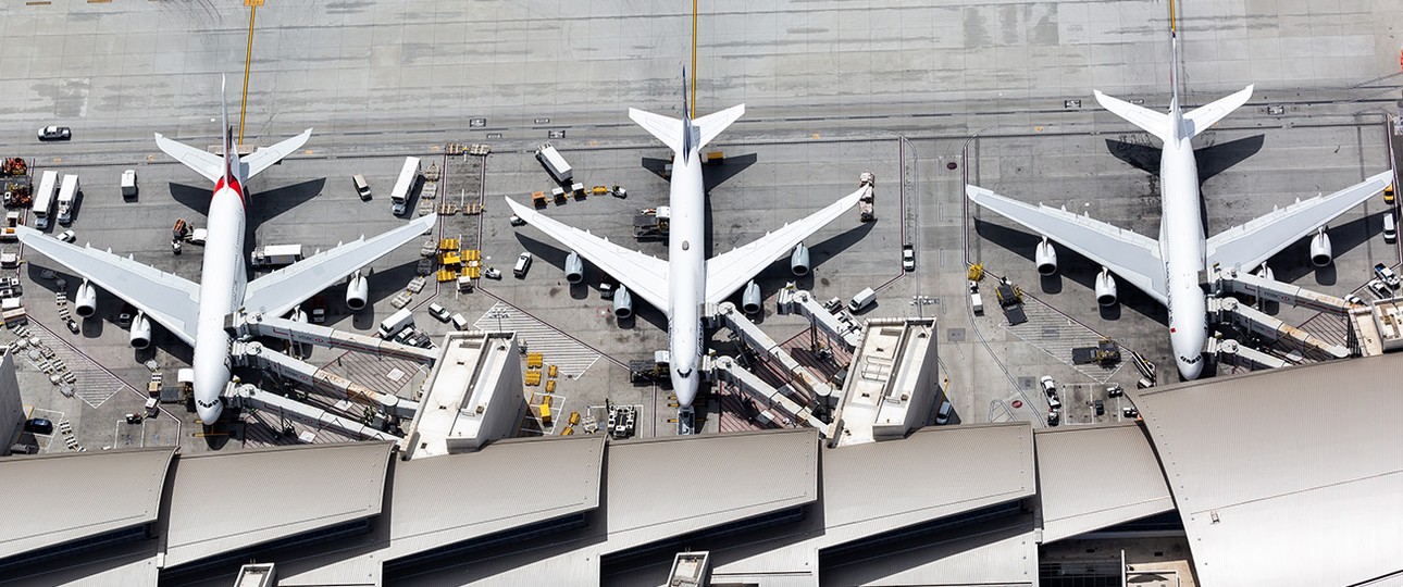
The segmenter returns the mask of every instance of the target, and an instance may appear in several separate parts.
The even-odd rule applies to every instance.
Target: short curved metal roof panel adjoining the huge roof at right
[[[1174,509],[1139,424],[1042,429],[1033,441],[1044,544]]]

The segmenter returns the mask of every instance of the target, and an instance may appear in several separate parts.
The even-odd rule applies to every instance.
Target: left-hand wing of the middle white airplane
[[[546,233],[547,237],[556,240],[561,245],[570,248],[571,251],[579,254],[579,256],[588,259],[591,263],[603,269],[613,279],[617,279],[634,296],[641,297],[654,308],[662,310],[665,314],[672,315],[672,307],[668,303],[668,262],[657,256],[644,255],[638,251],[626,249],[607,238],[596,237],[579,228],[568,227],[557,220],[546,217],[546,214],[537,213],[526,206],[512,202],[511,198],[506,199],[506,205],[511,206],[512,213],[519,216],[526,224],[539,228]]]

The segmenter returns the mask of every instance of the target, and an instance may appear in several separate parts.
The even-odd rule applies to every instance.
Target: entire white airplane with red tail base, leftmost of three
[[[220,98],[223,99],[223,84]],[[195,409],[206,424],[219,422],[223,412],[220,394],[231,377],[230,336],[224,331],[229,314],[261,311],[283,315],[352,273],[347,305],[359,310],[365,307],[368,294],[366,280],[359,269],[418,238],[436,221],[436,216],[425,216],[379,237],[362,237],[248,282],[244,270],[244,216],[248,203],[244,182],[302,147],[311,136],[311,129],[240,160],[233,127],[229,126],[227,102],[223,127],[224,157],[156,134],[156,144],[166,154],[215,182],[199,283],[163,273],[130,256],[114,255],[111,249],[76,247],[32,228],[17,228],[25,247],[83,276],[83,284],[74,297],[74,310],[80,317],[88,318],[97,312],[97,291],[93,289],[97,284],[139,310],[130,326],[129,340],[133,347],[150,345],[152,326],[147,317],[195,347]]]

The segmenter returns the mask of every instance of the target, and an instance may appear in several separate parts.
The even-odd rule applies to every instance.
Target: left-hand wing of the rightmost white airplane
[[[1065,209],[1010,200],[974,185],[965,185],[965,193],[971,202],[1104,265],[1162,304],[1169,298],[1164,262],[1153,238]]]

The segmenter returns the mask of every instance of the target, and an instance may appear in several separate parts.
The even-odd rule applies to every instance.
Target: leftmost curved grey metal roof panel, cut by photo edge
[[[174,448],[0,460],[24,500],[0,524],[0,559],[156,521]]]

